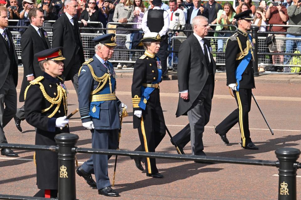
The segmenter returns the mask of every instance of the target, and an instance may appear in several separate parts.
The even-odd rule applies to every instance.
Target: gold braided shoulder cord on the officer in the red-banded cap
[[[59,110],[61,102],[63,100],[63,105],[64,105],[64,111],[65,111],[65,115],[66,113],[66,106],[67,106],[67,95],[66,95],[66,90],[64,88],[62,88],[60,85],[57,85],[57,96],[55,98],[51,98],[45,91],[45,88],[43,86],[42,83],[40,83],[40,81],[43,79],[43,76],[40,76],[36,79],[34,79],[33,81],[30,82],[30,85],[27,86],[27,88],[25,89],[24,92],[24,99],[26,99],[26,94],[27,94],[27,90],[31,85],[36,85],[39,84],[40,85],[40,90],[44,96],[44,98],[51,103],[51,106],[49,108],[46,108],[44,110],[42,110],[42,113],[45,113],[46,111],[50,110],[50,108],[52,108],[54,105],[57,105],[56,108],[54,109],[54,111],[48,116],[48,118],[52,118],[55,113]]]

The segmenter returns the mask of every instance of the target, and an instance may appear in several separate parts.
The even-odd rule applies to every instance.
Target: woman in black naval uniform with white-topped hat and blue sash
[[[138,128],[141,145],[135,151],[155,152],[166,133],[163,111],[160,103],[159,83],[162,81],[161,61],[156,53],[160,48],[161,36],[157,32],[147,32],[141,42],[146,51],[134,65],[132,83],[133,124]],[[133,158],[136,167],[146,176],[163,178],[158,172],[155,158]]]

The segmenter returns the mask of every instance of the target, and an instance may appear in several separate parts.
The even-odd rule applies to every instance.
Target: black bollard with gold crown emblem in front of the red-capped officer
[[[55,136],[59,151],[59,200],[75,200],[75,144],[78,135],[61,133]]]

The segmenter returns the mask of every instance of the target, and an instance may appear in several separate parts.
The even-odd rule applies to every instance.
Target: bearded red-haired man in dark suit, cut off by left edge
[[[3,128],[17,111],[18,56],[7,26],[7,10],[0,6],[0,143],[7,143]],[[10,148],[1,149],[1,155],[18,156]]]

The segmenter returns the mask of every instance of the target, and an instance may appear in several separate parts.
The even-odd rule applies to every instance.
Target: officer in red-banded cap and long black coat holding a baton
[[[43,76],[30,82],[26,88],[25,118],[36,128],[36,145],[56,145],[55,135],[69,133],[66,87],[60,76],[64,70],[62,47],[36,53]],[[61,128],[61,129],[60,129]],[[58,154],[50,151],[35,152],[37,185],[35,197],[57,197]]]

